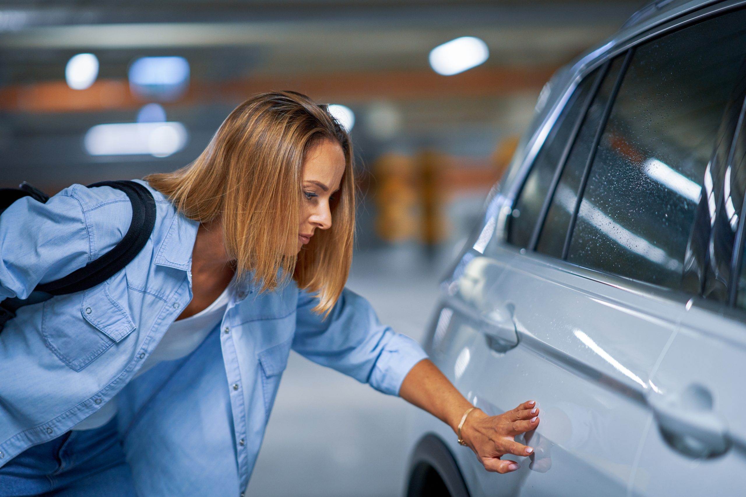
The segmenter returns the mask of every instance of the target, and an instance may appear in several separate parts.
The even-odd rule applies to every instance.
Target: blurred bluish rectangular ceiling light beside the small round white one
[[[173,100],[189,84],[189,62],[184,57],[140,57],[130,66],[129,80],[141,97]]]

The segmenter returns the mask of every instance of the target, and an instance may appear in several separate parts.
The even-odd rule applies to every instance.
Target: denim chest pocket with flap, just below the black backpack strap
[[[41,332],[46,346],[72,370],[83,370],[136,327],[128,311],[112,297],[110,281],[84,291],[82,298],[76,293],[44,303]],[[126,301],[126,285],[114,293]]]

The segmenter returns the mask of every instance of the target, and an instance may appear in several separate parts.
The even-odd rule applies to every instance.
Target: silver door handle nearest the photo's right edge
[[[695,458],[724,454],[730,435],[723,417],[712,411],[712,396],[701,385],[674,395],[651,394],[648,404],[668,445]]]

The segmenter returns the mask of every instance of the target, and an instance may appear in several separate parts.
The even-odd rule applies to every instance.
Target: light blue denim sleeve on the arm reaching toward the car
[[[298,294],[298,320],[292,348],[322,366],[331,367],[389,395],[427,354],[412,338],[383,326],[372,306],[345,288],[330,314],[312,311],[318,301]]]

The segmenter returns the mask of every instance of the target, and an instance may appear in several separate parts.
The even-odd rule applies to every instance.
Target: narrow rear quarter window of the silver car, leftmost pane
[[[571,139],[571,133],[583,109],[583,103],[592,86],[594,76],[595,73],[586,77],[577,86],[577,89],[565,104],[560,117],[557,118],[550,130],[541,151],[533,161],[531,171],[521,189],[521,193],[518,195],[513,215],[508,224],[507,239],[510,244],[518,245],[518,247],[528,246],[533,229],[536,226],[536,220],[539,218],[539,213],[551,186],[554,171],[560,162],[565,144],[568,139]]]

